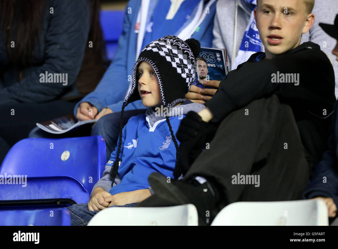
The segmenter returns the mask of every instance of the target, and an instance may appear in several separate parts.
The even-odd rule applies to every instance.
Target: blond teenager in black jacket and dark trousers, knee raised
[[[182,120],[177,138],[186,151],[179,156],[184,179],[165,184],[151,174],[155,194],[138,206],[192,203],[200,221],[210,224],[233,202],[301,199],[327,147],[336,101],[330,60],[319,45],[300,45],[314,23],[313,6],[314,0],[257,1],[265,53],[229,72],[207,107]],[[215,121],[210,149],[190,166],[190,151],[205,146]]]

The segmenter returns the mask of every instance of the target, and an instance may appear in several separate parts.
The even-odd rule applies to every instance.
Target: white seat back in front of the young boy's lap
[[[193,204],[173,207],[110,207],[94,215],[88,226],[197,226]]]

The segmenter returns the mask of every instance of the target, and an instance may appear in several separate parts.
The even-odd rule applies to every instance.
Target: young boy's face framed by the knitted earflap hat
[[[163,102],[159,81],[152,66],[148,62],[142,61],[138,67],[138,75],[138,90],[142,104],[145,107],[161,105]]]

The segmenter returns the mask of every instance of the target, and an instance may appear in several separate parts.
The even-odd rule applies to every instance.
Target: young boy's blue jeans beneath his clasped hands
[[[124,206],[111,206],[111,207],[135,207],[138,203],[130,203]],[[75,204],[67,207],[70,214],[71,226],[86,226],[98,211],[89,211],[87,204]],[[113,224],[112,224],[113,225]]]

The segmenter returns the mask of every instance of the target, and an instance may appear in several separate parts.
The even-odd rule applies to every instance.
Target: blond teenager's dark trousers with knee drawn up
[[[234,184],[238,173],[259,175],[259,187]],[[185,178],[194,175],[216,180],[227,204],[301,199],[309,166],[291,108],[272,95],[233,111]]]

